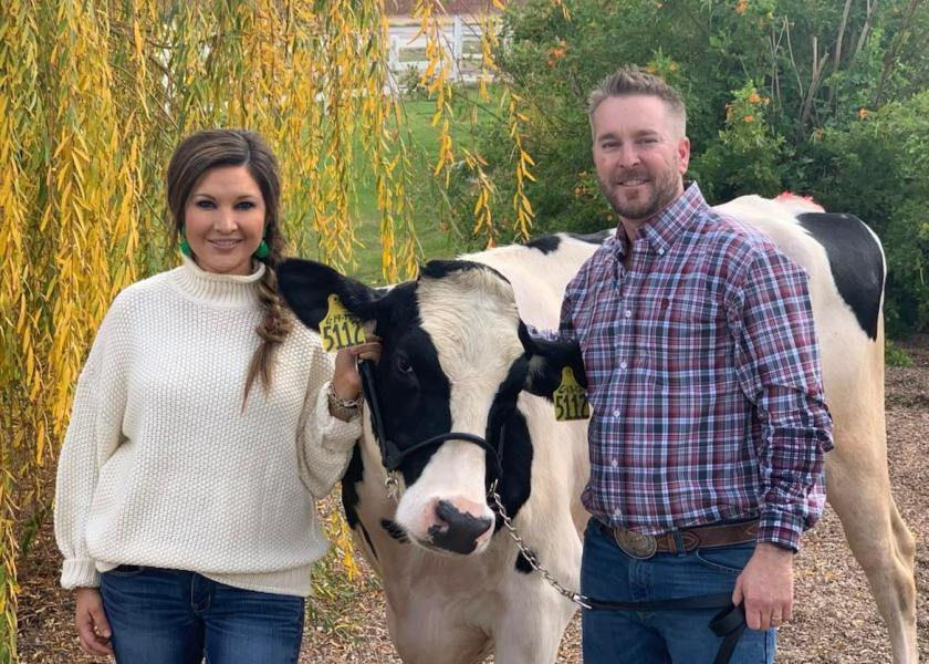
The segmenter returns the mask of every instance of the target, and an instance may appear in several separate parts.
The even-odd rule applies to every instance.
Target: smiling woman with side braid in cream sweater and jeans
[[[314,498],[361,434],[358,359],[285,310],[276,163],[255,134],[200,132],[168,166],[184,264],[113,302],[58,469],[62,585],[90,653],[121,664],[296,662]]]

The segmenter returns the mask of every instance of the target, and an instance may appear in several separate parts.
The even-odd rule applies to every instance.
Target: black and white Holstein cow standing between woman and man
[[[828,499],[871,583],[895,662],[916,662],[914,540],[887,473],[877,238],[855,217],[795,198],[743,197],[721,209],[769,235],[811,274],[835,419]],[[319,328],[328,295],[337,294],[383,339],[376,395],[386,436],[400,449],[457,432],[502,450],[508,512],[541,564],[574,589],[587,518],[580,502],[589,470],[586,422],[556,422],[549,398],[563,366],[582,380],[583,367],[576,346],[533,340],[524,323],[557,325],[565,286],[606,237],[560,234],[431,261],[416,281],[387,289],[311,261],[280,270],[282,292],[305,324]],[[343,505],[383,579],[403,660],[463,664],[492,652],[498,664],[554,662],[574,606],[500,532],[487,498],[499,474],[493,455],[460,438],[414,452],[398,469],[394,499],[370,418],[364,421]]]

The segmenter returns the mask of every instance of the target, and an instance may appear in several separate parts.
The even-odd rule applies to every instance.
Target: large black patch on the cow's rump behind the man
[[[838,293],[852,308],[862,330],[876,340],[884,260],[874,236],[854,215],[804,212],[797,215],[797,221],[825,248]]]

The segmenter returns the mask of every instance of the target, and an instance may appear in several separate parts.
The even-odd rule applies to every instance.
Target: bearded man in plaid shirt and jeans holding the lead
[[[591,94],[589,117],[620,224],[562,309],[593,406],[582,592],[731,591],[750,627],[732,662],[773,662],[832,448],[806,273],[685,185],[685,107],[664,81],[620,69]],[[712,614],[586,611],[584,660],[711,662]]]

